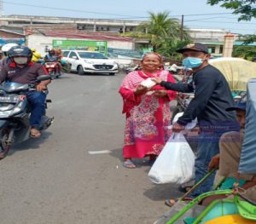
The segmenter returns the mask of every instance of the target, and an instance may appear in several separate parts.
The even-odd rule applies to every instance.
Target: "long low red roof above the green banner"
[[[67,38],[79,38],[79,39],[91,39],[91,40],[107,40],[107,41],[127,41],[131,42],[131,37],[118,37],[118,36],[108,36],[108,35],[96,35],[85,34],[85,33],[70,33],[70,32],[44,32],[45,36],[48,37],[67,37]]]

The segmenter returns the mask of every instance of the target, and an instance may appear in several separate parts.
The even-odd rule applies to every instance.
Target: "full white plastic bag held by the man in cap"
[[[193,178],[194,165],[194,152],[183,133],[174,133],[155,160],[148,177],[156,184],[183,184]]]

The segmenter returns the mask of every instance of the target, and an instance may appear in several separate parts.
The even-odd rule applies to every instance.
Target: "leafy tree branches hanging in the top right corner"
[[[256,0],[207,0],[210,5],[220,4],[226,9],[234,9],[233,14],[241,14],[238,20],[256,18]]]

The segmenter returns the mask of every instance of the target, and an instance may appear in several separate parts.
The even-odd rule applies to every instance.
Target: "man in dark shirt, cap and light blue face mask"
[[[191,83],[168,83],[154,78],[166,89],[178,92],[192,93],[195,97],[189,106],[173,123],[172,130],[179,132],[187,123],[197,118],[200,128],[197,157],[195,159],[195,183],[207,174],[207,166],[212,157],[219,152],[218,140],[221,135],[231,130],[237,130],[236,114],[225,111],[234,105],[230,87],[224,75],[217,68],[209,65],[207,47],[201,43],[188,44],[183,49],[178,49],[183,54],[183,66],[193,71]],[[200,187],[190,194],[192,198],[212,190],[214,176],[207,179]]]

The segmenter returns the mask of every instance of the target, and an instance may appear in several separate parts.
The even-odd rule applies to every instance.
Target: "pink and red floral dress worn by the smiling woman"
[[[155,77],[175,82],[169,72],[160,71]],[[176,97],[176,92],[168,90],[168,96],[158,98],[154,90],[164,89],[155,86],[145,95],[137,97],[134,91],[148,78],[141,72],[129,73],[119,89],[123,96],[126,113],[124,158],[143,158],[147,155],[159,155],[171,135],[171,112],[169,102]]]

